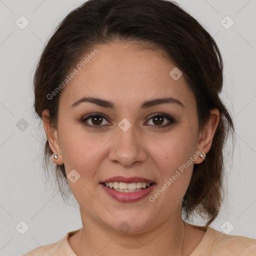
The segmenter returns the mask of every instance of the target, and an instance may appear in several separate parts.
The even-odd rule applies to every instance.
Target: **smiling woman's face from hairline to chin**
[[[57,142],[50,143],[58,154],[54,162],[65,165],[82,221],[149,230],[180,216],[193,163],[202,161],[198,151],[205,151],[205,140],[198,132],[195,97],[159,51],[124,42],[95,48],[61,92]],[[83,97],[98,100],[75,103]],[[138,181],[153,184],[124,193],[104,186],[107,179],[123,181],[115,183],[122,188],[133,183],[131,189],[142,185]]]

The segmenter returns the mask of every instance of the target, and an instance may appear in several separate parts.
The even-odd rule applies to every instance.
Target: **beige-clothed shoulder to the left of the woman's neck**
[[[66,233],[66,235],[59,241],[36,247],[22,256],[76,256],[76,254],[71,249],[67,238],[78,230],[79,229],[70,231]]]

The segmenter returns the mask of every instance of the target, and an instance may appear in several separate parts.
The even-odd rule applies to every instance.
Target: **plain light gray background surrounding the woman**
[[[32,109],[33,68],[43,44],[81,2],[0,0],[0,255],[22,255],[81,227],[78,209],[63,205],[43,184],[40,156],[45,137]],[[235,122],[233,163],[226,162],[228,196],[211,226],[221,231],[228,220],[234,226],[230,234],[256,238],[256,1],[177,2],[206,27],[221,50],[225,65],[221,96]],[[21,15],[29,21],[24,29],[15,24]],[[229,29],[220,23],[226,15],[234,21]],[[21,118],[28,123],[23,131],[16,126]],[[24,234],[15,229],[21,220],[29,226]]]

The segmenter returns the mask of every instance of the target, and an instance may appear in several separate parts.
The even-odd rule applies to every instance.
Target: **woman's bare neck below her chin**
[[[181,214],[169,217],[146,231],[132,233],[116,231],[89,216],[81,216],[82,229],[69,239],[69,244],[77,256],[112,256],[117,253],[123,256],[182,255],[184,222]]]

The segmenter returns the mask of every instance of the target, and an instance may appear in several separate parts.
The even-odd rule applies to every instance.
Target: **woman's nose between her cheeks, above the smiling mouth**
[[[138,165],[146,160],[146,145],[136,132],[134,124],[126,131],[118,127],[117,134],[111,140],[108,158],[113,163],[119,163],[126,168]]]

